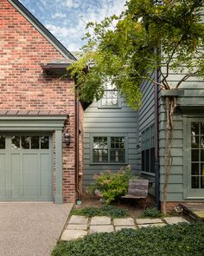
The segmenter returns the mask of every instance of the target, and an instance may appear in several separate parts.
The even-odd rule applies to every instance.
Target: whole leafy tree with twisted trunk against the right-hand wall
[[[104,83],[111,80],[127,104],[138,109],[143,80],[169,90],[173,89],[168,82],[170,70],[188,74],[182,76],[174,89],[192,75],[204,77],[204,25],[200,16],[203,3],[204,0],[130,0],[121,16],[88,23],[87,30],[92,33],[86,33],[84,56],[72,67],[80,99],[99,100]],[[94,63],[89,70],[88,63]],[[152,76],[155,69],[161,75],[160,81]],[[166,96],[164,213],[175,108],[175,96]]]

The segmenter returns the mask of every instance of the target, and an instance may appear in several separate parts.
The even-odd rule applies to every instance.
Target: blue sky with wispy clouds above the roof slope
[[[20,2],[68,50],[84,44],[87,22],[99,22],[105,16],[119,15],[125,0],[20,0]]]

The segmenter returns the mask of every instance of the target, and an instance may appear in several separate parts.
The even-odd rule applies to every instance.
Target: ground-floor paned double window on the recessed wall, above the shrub
[[[124,136],[94,136],[92,140],[93,162],[125,162]]]

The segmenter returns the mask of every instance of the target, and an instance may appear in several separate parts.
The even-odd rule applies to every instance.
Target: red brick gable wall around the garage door
[[[75,198],[75,99],[73,81],[42,72],[41,64],[63,59],[35,28],[6,0],[0,2],[0,110],[64,110],[63,194]]]

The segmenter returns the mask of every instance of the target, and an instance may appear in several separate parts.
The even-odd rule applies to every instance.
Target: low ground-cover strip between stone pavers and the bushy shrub
[[[127,211],[125,209],[117,208],[114,206],[103,206],[100,208],[97,207],[85,207],[82,209],[73,209],[71,212],[72,215],[83,215],[86,217],[93,216],[110,216],[112,218],[123,218],[126,217]]]

